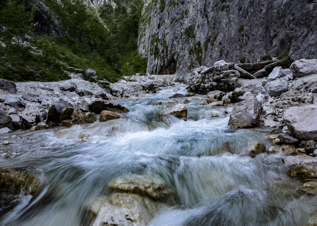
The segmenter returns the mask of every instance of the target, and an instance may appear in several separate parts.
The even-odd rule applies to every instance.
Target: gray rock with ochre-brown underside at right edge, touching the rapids
[[[307,179],[317,178],[317,157],[297,162],[292,175]]]

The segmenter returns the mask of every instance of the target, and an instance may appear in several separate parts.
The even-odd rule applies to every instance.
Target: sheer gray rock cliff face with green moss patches
[[[177,73],[218,60],[256,62],[289,53],[317,57],[316,0],[152,0],[145,2],[138,51],[147,72]]]

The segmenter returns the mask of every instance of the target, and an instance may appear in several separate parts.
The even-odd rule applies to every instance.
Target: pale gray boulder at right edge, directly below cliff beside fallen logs
[[[290,66],[295,77],[304,77],[317,73],[317,59],[300,59],[296,60]]]

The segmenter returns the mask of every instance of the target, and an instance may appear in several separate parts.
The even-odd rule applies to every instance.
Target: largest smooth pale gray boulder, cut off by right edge
[[[284,112],[283,122],[298,139],[317,141],[317,104],[290,107]]]

